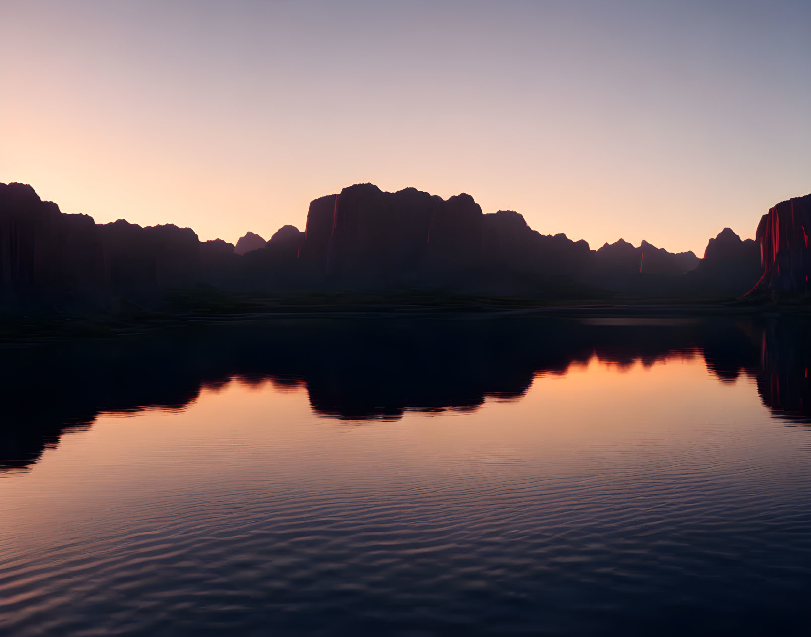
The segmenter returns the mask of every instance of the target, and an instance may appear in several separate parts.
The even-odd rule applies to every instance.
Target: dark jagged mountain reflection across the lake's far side
[[[599,322],[596,322],[599,323]],[[611,322],[603,322],[611,323]],[[701,352],[722,381],[757,375],[764,403],[805,422],[811,351],[801,326],[714,320],[592,324],[550,319],[342,319],[196,326],[115,340],[11,348],[0,370],[0,470],[36,462],[100,413],[180,409],[230,378],[303,385],[316,413],[397,419],[518,398],[538,374],[593,355],[650,365]]]

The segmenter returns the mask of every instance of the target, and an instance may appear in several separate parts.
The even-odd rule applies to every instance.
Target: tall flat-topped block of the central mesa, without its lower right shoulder
[[[350,186],[310,204],[299,256],[337,287],[451,284],[480,265],[482,210],[470,195],[444,201],[414,188]]]

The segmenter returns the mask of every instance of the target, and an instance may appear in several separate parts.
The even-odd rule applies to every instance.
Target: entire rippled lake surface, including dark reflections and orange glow
[[[807,332],[388,319],[6,348],[0,634],[807,635]]]

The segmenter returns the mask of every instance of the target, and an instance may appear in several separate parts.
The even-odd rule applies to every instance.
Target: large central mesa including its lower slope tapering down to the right
[[[298,255],[303,271],[328,285],[516,293],[530,283],[518,289],[509,276],[579,276],[589,247],[563,234],[545,237],[517,212],[483,215],[470,195],[445,201],[361,184],[310,204]]]

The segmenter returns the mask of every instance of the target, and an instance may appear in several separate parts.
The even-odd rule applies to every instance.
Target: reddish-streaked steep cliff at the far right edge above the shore
[[[778,203],[757,226],[760,285],[780,292],[809,292],[811,195]]]

